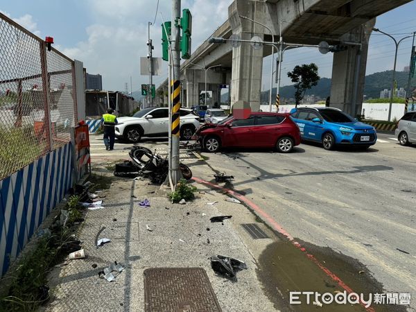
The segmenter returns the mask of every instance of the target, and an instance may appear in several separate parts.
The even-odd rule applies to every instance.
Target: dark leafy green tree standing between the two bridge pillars
[[[295,107],[304,98],[306,90],[318,85],[320,80],[318,66],[315,63],[303,64],[302,66],[296,65],[293,71],[288,72],[288,77],[291,78],[292,83],[295,83]]]

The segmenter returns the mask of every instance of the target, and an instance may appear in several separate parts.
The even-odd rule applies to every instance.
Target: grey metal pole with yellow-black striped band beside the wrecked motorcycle
[[[179,170],[179,141],[180,141],[180,0],[172,0],[172,35],[171,47],[173,58],[173,77],[171,80],[172,99],[172,182],[176,185],[181,176]]]

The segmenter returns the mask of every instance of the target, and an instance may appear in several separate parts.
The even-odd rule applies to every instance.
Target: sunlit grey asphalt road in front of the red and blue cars
[[[286,155],[203,155],[292,236],[357,259],[385,291],[411,293],[415,308],[416,145],[379,134],[365,151],[301,144]]]

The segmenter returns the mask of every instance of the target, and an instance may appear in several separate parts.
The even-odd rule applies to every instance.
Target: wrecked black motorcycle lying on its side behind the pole
[[[162,184],[168,176],[168,159],[143,146],[133,146],[129,152],[132,161],[116,164],[114,175],[141,175],[149,177],[150,181]],[[182,176],[189,180],[192,177],[191,169],[184,164],[179,165]]]

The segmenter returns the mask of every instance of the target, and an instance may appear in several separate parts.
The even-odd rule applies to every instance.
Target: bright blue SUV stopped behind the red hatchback
[[[302,140],[322,142],[326,150],[333,150],[338,144],[361,148],[376,144],[372,125],[361,123],[338,108],[293,108],[291,118],[299,127]]]

